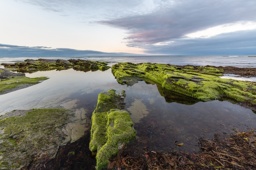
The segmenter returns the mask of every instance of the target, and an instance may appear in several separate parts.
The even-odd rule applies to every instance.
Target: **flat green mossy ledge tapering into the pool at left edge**
[[[20,85],[28,84],[28,86],[38,84],[39,82],[48,79],[47,77],[29,78],[25,76],[12,77],[11,79],[2,79],[0,81],[0,94],[4,91],[10,91],[18,88]]]

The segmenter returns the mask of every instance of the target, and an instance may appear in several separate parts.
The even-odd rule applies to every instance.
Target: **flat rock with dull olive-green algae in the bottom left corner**
[[[0,169],[27,169],[45,155],[54,157],[67,137],[63,127],[72,116],[69,110],[18,111],[0,117]]]

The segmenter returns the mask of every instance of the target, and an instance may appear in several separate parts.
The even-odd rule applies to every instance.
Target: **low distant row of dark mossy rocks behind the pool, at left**
[[[36,71],[49,71],[49,70],[66,70],[74,68],[79,71],[96,71],[96,70],[107,70],[110,66],[107,66],[107,62],[98,62],[90,60],[70,59],[70,60],[49,60],[49,59],[38,59],[31,60],[27,59],[24,62],[16,62],[14,64],[2,63],[4,68],[12,71],[18,71],[22,73],[33,73]]]

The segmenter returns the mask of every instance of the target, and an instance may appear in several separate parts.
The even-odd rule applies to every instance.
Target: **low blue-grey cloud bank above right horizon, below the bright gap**
[[[211,38],[178,39],[162,45],[145,45],[146,53],[172,55],[256,54],[256,30],[222,33]]]

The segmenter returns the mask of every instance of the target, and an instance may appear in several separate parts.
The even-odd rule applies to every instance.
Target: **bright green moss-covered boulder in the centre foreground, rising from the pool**
[[[130,114],[124,108],[122,95],[115,90],[100,93],[97,106],[92,113],[90,150],[97,152],[97,170],[108,165],[109,159],[117,155],[119,149],[135,137]]]

